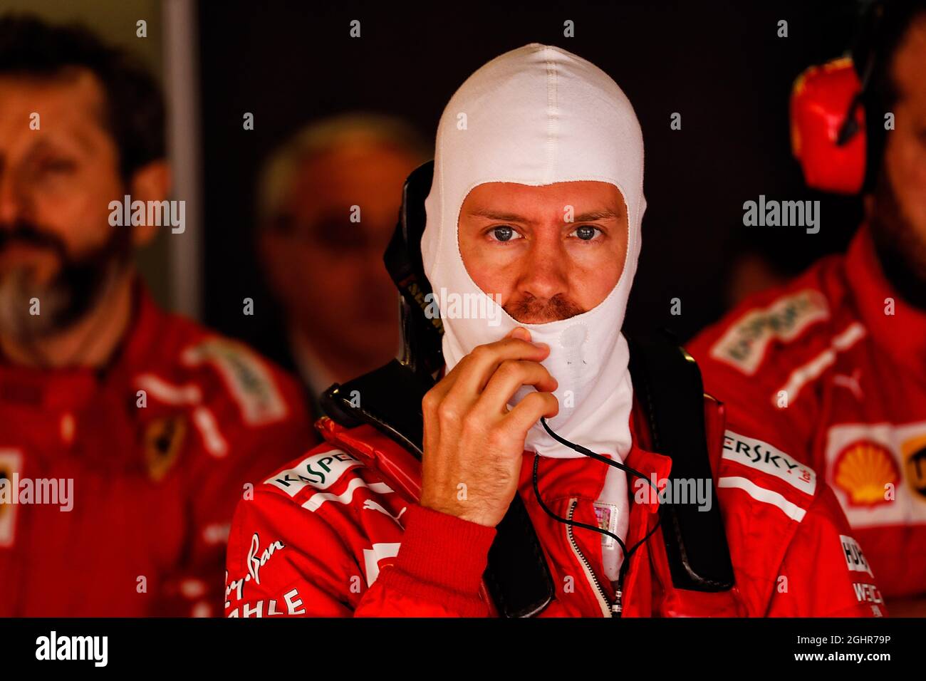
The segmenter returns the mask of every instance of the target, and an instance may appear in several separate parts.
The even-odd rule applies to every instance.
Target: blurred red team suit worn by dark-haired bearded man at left
[[[134,296],[105,370],[0,359],[0,617],[219,614],[244,485],[317,441],[292,379]]]

